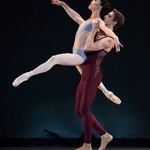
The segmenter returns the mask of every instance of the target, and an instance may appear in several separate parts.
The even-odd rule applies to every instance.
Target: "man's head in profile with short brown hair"
[[[110,13],[104,16],[105,25],[112,30],[119,29],[125,22],[125,17],[117,9],[113,9]]]

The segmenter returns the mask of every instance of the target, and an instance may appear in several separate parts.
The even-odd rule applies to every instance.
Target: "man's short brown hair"
[[[123,26],[125,22],[125,17],[117,9],[113,9],[112,11],[114,13],[114,21],[117,22],[117,24],[114,26],[114,30],[116,30],[119,29],[121,26]]]

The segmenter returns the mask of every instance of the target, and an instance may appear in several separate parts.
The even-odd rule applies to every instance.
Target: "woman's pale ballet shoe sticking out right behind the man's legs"
[[[109,91],[105,94],[105,96],[111,100],[115,104],[121,104],[121,100],[119,97],[117,97],[113,92]]]

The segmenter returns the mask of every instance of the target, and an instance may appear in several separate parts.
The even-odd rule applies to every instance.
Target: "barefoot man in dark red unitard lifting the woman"
[[[105,24],[111,30],[124,24],[124,16],[114,9],[105,16]],[[97,33],[98,22],[93,22],[93,29],[89,34],[85,50],[98,50],[87,53],[87,60],[81,65],[82,77],[77,88],[76,113],[83,119],[84,144],[77,150],[92,150],[91,135],[95,129],[101,136],[101,145],[98,150],[106,149],[107,144],[112,141],[113,136],[105,131],[95,116],[90,111],[90,106],[96,96],[97,87],[102,81],[102,70],[100,65],[104,57],[113,47],[113,39],[103,32]],[[95,36],[97,34],[97,36]],[[101,49],[101,50],[100,50]]]

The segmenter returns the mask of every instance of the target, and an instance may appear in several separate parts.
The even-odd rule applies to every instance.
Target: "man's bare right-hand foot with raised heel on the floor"
[[[111,142],[112,139],[113,139],[113,136],[108,133],[105,133],[104,135],[102,135],[101,136],[101,146],[98,150],[105,150],[107,147],[107,144],[109,142]]]

